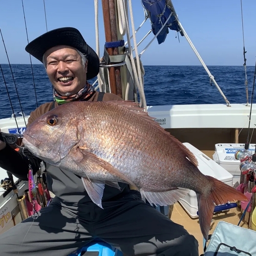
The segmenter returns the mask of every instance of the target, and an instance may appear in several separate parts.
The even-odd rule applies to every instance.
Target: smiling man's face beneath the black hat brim
[[[46,51],[46,72],[55,90],[62,96],[76,94],[86,85],[87,63],[70,46],[55,46]]]

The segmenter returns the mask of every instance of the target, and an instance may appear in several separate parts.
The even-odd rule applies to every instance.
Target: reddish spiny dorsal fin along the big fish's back
[[[147,120],[149,123],[154,125],[160,132],[167,134],[170,137],[170,139],[172,139],[174,143],[176,143],[180,147],[180,149],[183,151],[183,153],[188,158],[188,160],[192,164],[194,164],[196,167],[198,166],[198,161],[195,155],[185,145],[183,145],[178,139],[176,139],[169,132],[165,131],[158,122],[154,121],[155,118],[149,116],[147,112],[144,111],[144,109],[140,108],[139,103],[136,103],[132,100],[118,100],[118,101],[109,101],[109,102],[123,106],[124,108],[135,112],[136,114],[140,115],[141,118]]]

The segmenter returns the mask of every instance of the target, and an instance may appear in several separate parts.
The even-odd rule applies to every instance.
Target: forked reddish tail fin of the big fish
[[[228,201],[248,201],[248,199],[240,191],[225,184],[224,182],[210,176],[206,177],[209,182],[212,183],[212,186],[206,196],[197,193],[197,200],[200,228],[203,237],[207,241],[210,230],[210,222],[212,216],[214,215],[215,204],[226,204]]]

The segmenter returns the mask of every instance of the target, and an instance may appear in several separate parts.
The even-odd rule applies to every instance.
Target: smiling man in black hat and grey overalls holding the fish
[[[44,63],[54,87],[55,102],[31,113],[28,125],[58,104],[73,100],[99,100],[87,82],[99,72],[99,59],[74,28],[45,33],[26,47]],[[121,100],[105,93],[102,100]],[[40,131],[38,131],[40,132]],[[0,166],[27,180],[28,158],[34,171],[40,159],[23,154],[0,141]],[[1,255],[68,255],[95,238],[119,248],[126,255],[198,255],[198,242],[180,225],[141,200],[137,190],[119,183],[121,190],[105,186],[102,206],[94,204],[80,177],[46,164],[48,189],[55,194],[37,219],[28,218],[0,236]]]

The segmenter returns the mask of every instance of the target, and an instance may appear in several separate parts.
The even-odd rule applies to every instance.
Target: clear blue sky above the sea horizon
[[[104,1],[104,0],[103,0]],[[105,42],[102,6],[99,1],[100,54]],[[29,41],[46,32],[43,0],[23,0]],[[72,4],[71,4],[72,3]],[[256,1],[243,0],[245,48],[247,65],[254,66],[256,56]],[[95,49],[94,0],[45,0],[48,30],[75,27]],[[133,0],[135,28],[144,19],[139,0]],[[180,22],[197,48],[206,65],[242,66],[243,37],[240,0],[173,0]],[[22,1],[0,2],[0,28],[11,63],[30,63],[25,51],[27,36]],[[137,42],[151,28],[150,21],[136,35]],[[152,39],[153,34],[139,47],[139,52]],[[180,39],[180,41],[179,41]],[[176,38],[169,31],[165,42],[151,44],[141,56],[143,65],[200,65],[198,58],[184,37]],[[3,41],[0,42],[0,63],[7,63]],[[32,63],[39,63],[32,57]]]

